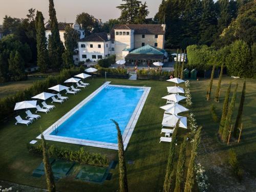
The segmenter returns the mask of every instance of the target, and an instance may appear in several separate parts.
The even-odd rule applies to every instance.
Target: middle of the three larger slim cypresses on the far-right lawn
[[[233,109],[234,109],[234,103],[236,102],[236,98],[237,98],[237,88],[238,88],[238,83],[236,85],[236,88],[233,91],[232,99],[231,99],[231,102],[228,107],[227,116],[226,116],[225,124],[223,127],[223,131],[222,131],[223,142],[227,142],[227,139],[228,139],[229,128],[232,123],[232,114],[233,114]]]

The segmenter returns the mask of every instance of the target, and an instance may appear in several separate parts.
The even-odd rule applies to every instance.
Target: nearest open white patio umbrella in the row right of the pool
[[[178,115],[163,114],[162,125],[174,127],[179,119],[179,127],[187,129],[187,118]]]

